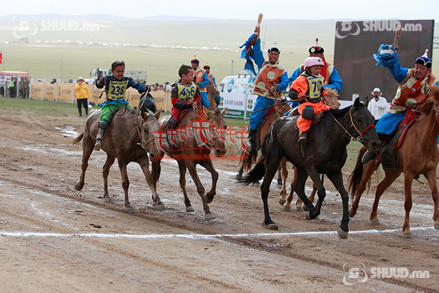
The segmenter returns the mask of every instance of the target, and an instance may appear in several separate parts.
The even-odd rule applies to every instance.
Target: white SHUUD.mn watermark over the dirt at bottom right
[[[344,263],[343,270],[346,272],[343,283],[351,286],[355,283],[364,283],[368,279],[429,279],[428,270],[412,270],[407,268],[372,267],[366,269],[363,263]]]

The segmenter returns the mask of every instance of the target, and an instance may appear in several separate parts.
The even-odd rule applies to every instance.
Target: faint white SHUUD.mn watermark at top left
[[[72,20],[40,20],[37,21],[33,16],[31,19],[17,20],[14,17],[14,38],[24,38],[25,36],[35,36],[38,32],[99,32],[98,23],[88,21]]]

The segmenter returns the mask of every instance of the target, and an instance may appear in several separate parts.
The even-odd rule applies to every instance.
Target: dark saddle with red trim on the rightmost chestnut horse
[[[405,113],[403,121],[399,124],[398,130],[390,134],[390,137],[384,139],[381,143],[380,159],[383,165],[383,169],[398,169],[399,167],[399,155],[398,149],[403,144],[405,134],[413,125],[414,121],[418,119],[418,115],[410,108]]]

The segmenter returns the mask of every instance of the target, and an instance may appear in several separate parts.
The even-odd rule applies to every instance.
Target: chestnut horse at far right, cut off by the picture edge
[[[370,213],[370,222],[372,224],[381,224],[377,209],[381,195],[392,185],[394,180],[404,173],[404,190],[405,190],[405,220],[402,228],[403,237],[412,238],[413,233],[410,231],[410,209],[412,209],[412,181],[414,178],[423,174],[427,178],[431,196],[434,202],[434,228],[439,229],[439,193],[436,185],[437,175],[436,167],[439,161],[439,150],[436,141],[439,135],[439,87],[431,88],[429,98],[420,106],[420,117],[407,130],[405,138],[398,149],[399,166],[397,169],[385,169],[385,178],[377,186],[375,192],[375,201],[372,212]],[[349,215],[353,217],[357,213],[361,194],[370,187],[370,176],[377,170],[380,165],[378,159],[371,160],[366,164],[361,163],[364,148],[359,151],[357,164],[349,179],[349,190],[353,198],[353,204],[349,209]],[[355,200],[354,200],[355,198]]]

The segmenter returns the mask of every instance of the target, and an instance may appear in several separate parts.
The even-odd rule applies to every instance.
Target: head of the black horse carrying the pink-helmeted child
[[[370,152],[379,152],[381,140],[375,130],[375,118],[370,114],[368,108],[359,102],[359,97],[351,106],[349,116],[351,119],[349,133],[366,146]]]

